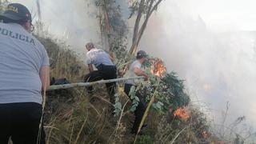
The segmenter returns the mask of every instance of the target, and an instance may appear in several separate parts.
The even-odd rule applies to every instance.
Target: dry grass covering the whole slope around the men
[[[68,78],[71,82],[82,81],[86,66],[64,43],[58,45],[50,38],[39,38],[50,55],[51,76]],[[94,94],[85,88],[56,90],[47,94],[45,111],[46,142],[50,144],[82,143],[133,143],[130,134],[133,114],[130,101],[118,89],[123,104],[121,115],[110,114],[110,102],[104,85],[95,86]],[[190,106],[190,118],[182,121],[172,112],[159,115],[148,111],[145,118],[148,127],[145,135],[138,136],[136,143],[227,143],[210,129],[205,114]],[[206,134],[204,133],[206,132]]]

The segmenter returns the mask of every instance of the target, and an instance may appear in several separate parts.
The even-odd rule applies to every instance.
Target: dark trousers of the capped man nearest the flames
[[[132,86],[133,85],[125,84],[125,93],[129,97],[130,97],[130,95],[129,95],[130,88]],[[146,102],[145,102],[145,97],[143,97],[142,94],[139,93],[138,91],[136,92],[135,95],[139,98],[140,102],[138,102],[137,109],[134,111],[135,119],[134,119],[134,124],[133,124],[131,132],[134,133],[134,134],[137,134],[138,127],[139,127],[140,123],[142,122],[142,117],[143,117],[143,114],[144,114],[144,112],[146,110]]]

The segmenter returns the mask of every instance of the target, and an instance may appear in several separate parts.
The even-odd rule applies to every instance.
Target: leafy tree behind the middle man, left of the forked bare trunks
[[[99,8],[98,20],[105,50],[117,53],[126,43],[128,29],[122,18],[121,8],[116,0],[94,0]]]

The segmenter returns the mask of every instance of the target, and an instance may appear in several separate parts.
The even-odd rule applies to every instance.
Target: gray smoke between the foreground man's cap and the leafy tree
[[[100,34],[96,11],[92,10],[92,3],[84,0],[38,0],[41,6],[44,28],[53,34],[54,38],[67,42],[84,57],[86,42],[99,42]],[[37,1],[37,2],[38,2]],[[12,0],[26,5],[38,18],[37,2],[30,0]]]

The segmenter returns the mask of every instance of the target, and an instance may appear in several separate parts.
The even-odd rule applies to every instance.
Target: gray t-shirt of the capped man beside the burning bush
[[[130,65],[129,70],[127,71],[127,77],[128,77],[128,78],[137,77],[137,76],[138,76],[138,75],[136,75],[136,74],[134,73],[134,68],[135,68],[135,67],[137,67],[138,69],[141,69],[141,68],[142,68],[141,62],[138,62],[138,60],[136,60],[136,61],[134,61],[134,62]],[[136,86],[138,82],[139,82],[138,79],[129,79],[129,80],[127,80],[126,83],[127,83],[127,84],[130,84],[130,85]]]

